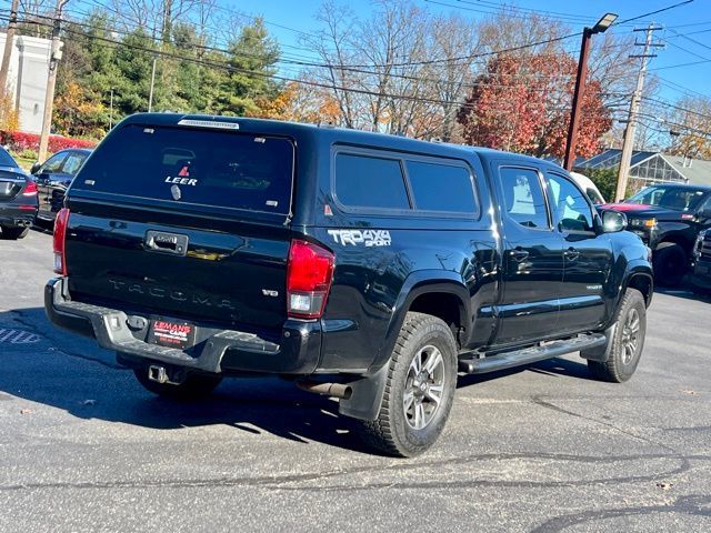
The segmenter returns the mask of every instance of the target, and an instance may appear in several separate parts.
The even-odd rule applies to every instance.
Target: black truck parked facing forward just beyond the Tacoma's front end
[[[677,286],[689,272],[699,231],[711,227],[711,187],[660,183],[602,208],[627,214],[630,229],[653,251],[657,283]]]

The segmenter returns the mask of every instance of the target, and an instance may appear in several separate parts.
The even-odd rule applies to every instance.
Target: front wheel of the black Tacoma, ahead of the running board
[[[637,331],[634,321],[637,319]],[[647,332],[647,305],[642,293],[628,289],[618,311],[617,328],[607,362],[588,360],[590,373],[601,381],[622,383],[632,378],[644,348]],[[630,344],[632,343],[632,344]]]

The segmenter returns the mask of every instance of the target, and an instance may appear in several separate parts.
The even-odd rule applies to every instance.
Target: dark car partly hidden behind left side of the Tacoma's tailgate
[[[64,192],[84,163],[91,150],[70,148],[60,150],[43,163],[34,163],[30,172],[39,187],[38,223],[51,227],[62,208]]]

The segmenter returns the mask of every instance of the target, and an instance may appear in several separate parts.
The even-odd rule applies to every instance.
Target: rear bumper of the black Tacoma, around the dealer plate
[[[47,283],[44,310],[49,320],[60,328],[94,338],[102,348],[124,355],[121,360],[131,364],[161,362],[211,373],[303,375],[313,373],[319,363],[319,322],[287,321],[279,343],[253,333],[197,324],[201,332],[199,342],[182,351],[144,342],[148,328],[130,328],[129,315],[121,310],[71,301],[67,285],[67,278],[54,278]]]

